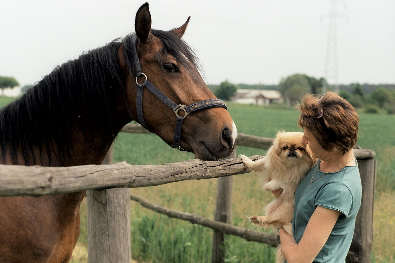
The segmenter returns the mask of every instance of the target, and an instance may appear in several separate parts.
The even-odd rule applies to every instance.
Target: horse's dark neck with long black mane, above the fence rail
[[[0,112],[0,144],[5,147],[0,151],[4,149],[6,163],[102,162],[117,133],[131,121],[114,50],[103,47],[65,63]]]

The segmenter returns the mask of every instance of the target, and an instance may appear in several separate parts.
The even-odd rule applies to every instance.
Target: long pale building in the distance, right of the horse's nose
[[[283,102],[277,90],[248,90],[239,88],[231,101],[243,104],[270,105]]]

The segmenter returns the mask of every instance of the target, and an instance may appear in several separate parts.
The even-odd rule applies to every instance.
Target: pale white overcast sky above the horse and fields
[[[56,65],[134,32],[136,0],[0,0],[0,75],[23,86]],[[278,84],[324,76],[329,0],[152,0],[152,28],[190,15],[184,40],[206,80]],[[339,83],[395,83],[395,1],[345,0],[337,21]]]

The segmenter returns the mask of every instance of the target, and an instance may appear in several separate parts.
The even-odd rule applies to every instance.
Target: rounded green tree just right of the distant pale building
[[[306,75],[294,74],[281,79],[278,84],[278,91],[281,92],[282,98],[286,104],[295,104],[302,97],[311,91]]]

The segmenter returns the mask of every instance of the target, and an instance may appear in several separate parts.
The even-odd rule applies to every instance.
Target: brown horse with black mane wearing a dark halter
[[[131,121],[196,158],[229,156],[237,130],[181,39],[188,21],[170,31],[151,29],[145,3],[135,33],[57,66],[0,110],[1,163],[100,164]],[[0,262],[70,261],[84,196],[0,197]]]

